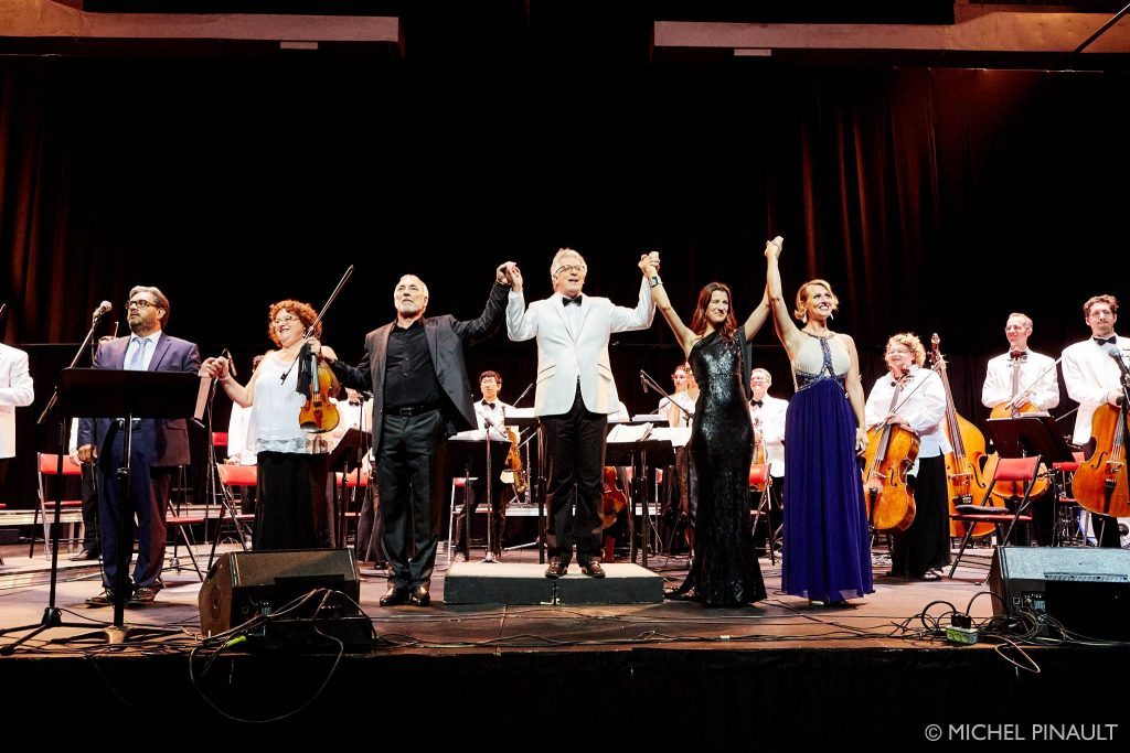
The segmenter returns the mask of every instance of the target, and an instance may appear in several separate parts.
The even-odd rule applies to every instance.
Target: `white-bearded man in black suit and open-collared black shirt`
[[[511,264],[511,262],[507,262]],[[327,359],[341,384],[373,393],[376,488],[389,560],[389,590],[381,606],[427,606],[440,542],[443,501],[433,493],[438,452],[455,431],[476,426],[463,345],[489,335],[502,322],[510,292],[504,273],[476,319],[425,317],[427,286],[415,274],[400,278],[392,294],[394,322],[370,332],[357,368]]]

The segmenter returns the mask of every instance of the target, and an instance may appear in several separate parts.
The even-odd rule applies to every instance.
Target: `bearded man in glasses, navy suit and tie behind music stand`
[[[138,286],[130,290],[127,323],[132,333],[103,343],[94,368],[129,371],[200,370],[195,343],[169,338],[168,298],[157,288]],[[114,601],[118,576],[119,516],[125,515],[127,541],[138,537],[138,561],[128,605],[151,604],[162,589],[160,569],[165,560],[165,505],[173,472],[189,464],[189,427],[184,419],[134,419],[133,453],[130,458],[132,510],[122,509],[118,469],[122,466],[125,441],[122,419],[81,419],[78,424],[78,457],[82,463],[98,459],[98,536],[102,540],[104,590],[86,601],[107,606]],[[137,525],[133,516],[137,515]],[[128,544],[127,544],[128,546]]]

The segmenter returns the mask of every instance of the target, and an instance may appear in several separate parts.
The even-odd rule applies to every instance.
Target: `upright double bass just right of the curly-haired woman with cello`
[[[946,454],[946,490],[949,492],[949,513],[953,516],[958,505],[981,504],[989,490],[983,471],[986,458],[985,437],[954,409],[954,393],[949,388],[949,373],[941,354],[941,338],[937,332],[930,338],[930,360],[946,388],[946,437],[953,447],[953,452]],[[973,526],[974,536],[985,536],[993,531],[991,523],[977,523]],[[965,524],[950,517],[949,535],[964,536]]]

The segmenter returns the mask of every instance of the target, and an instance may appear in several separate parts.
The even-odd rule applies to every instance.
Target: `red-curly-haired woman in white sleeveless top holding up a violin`
[[[319,374],[301,368],[299,359],[305,345],[304,333],[318,314],[307,304],[280,300],[270,307],[268,332],[277,345],[269,351],[251,375],[246,386],[232,376],[227,358],[209,358],[200,367],[201,376],[219,379],[224,392],[238,405],[254,405],[255,453],[259,465],[257,487],[255,551],[278,549],[315,549],[324,531],[327,510],[327,443],[319,434],[304,431],[299,414],[310,400],[307,392],[299,393],[299,373],[303,382],[318,379]],[[314,330],[321,335],[322,325]],[[316,348],[318,342],[311,341]],[[322,347],[322,352],[333,358],[333,351]],[[325,371],[329,375],[329,371]],[[285,380],[279,377],[286,376]],[[337,394],[337,379],[324,379],[322,391],[327,409],[330,395]],[[323,385],[319,383],[319,389]],[[327,410],[327,414],[334,411]]]

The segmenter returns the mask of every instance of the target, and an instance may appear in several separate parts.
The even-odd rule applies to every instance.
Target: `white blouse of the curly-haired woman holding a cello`
[[[884,375],[871,387],[867,396],[863,418],[868,428],[883,423],[883,419],[892,410],[910,424],[918,434],[919,457],[937,457],[950,452],[949,440],[942,421],[946,418],[946,387],[941,377],[930,369],[911,367],[911,378],[903,385],[895,408],[890,399],[895,394],[895,382],[890,375]],[[913,473],[913,471],[912,471]]]

